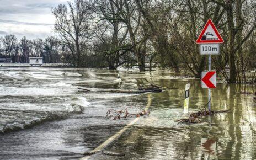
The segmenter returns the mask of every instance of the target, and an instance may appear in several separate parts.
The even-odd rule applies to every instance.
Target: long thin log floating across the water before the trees
[[[88,92],[110,92],[110,93],[147,93],[147,92],[162,92],[162,89],[149,89],[149,90],[126,90],[126,89],[99,89],[99,88],[86,88],[78,87],[78,89],[86,90]]]

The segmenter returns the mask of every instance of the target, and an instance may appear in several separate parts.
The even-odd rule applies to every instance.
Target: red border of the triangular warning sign
[[[201,40],[202,39],[202,36],[204,35],[206,29],[208,28],[208,26],[211,25],[212,26],[212,29],[214,29],[217,37],[219,40]],[[207,20],[207,23],[205,24],[204,26],[204,29],[202,29],[198,39],[196,40],[196,44],[222,44],[224,42],[223,38],[221,37],[220,33],[218,32],[216,26],[214,25],[214,23],[212,22],[211,19],[208,19]]]

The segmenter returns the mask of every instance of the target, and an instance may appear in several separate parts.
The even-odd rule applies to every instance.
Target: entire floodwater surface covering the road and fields
[[[177,125],[175,120],[189,116],[183,114],[185,84],[190,83],[189,113],[207,103],[207,89],[198,80],[171,76],[169,71],[0,68],[0,159],[82,158],[135,120],[106,119],[108,109],[138,113],[146,106],[150,116],[138,118],[87,158],[256,159],[256,100],[238,93],[253,92],[255,86],[219,82],[212,89],[212,109],[230,112],[202,118],[202,124]],[[121,94],[78,89],[136,89],[140,84],[167,90]]]

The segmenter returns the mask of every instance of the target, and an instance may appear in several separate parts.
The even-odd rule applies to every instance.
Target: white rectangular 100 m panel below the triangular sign
[[[220,44],[200,44],[201,55],[218,55],[220,54]]]

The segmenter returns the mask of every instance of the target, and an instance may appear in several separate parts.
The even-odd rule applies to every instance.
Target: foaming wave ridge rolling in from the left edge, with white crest
[[[55,98],[61,99],[60,97]],[[84,97],[73,97],[71,102],[70,105],[66,106],[65,111],[1,109],[0,133],[27,129],[46,121],[65,119],[73,114],[82,114],[84,108],[90,104]]]

